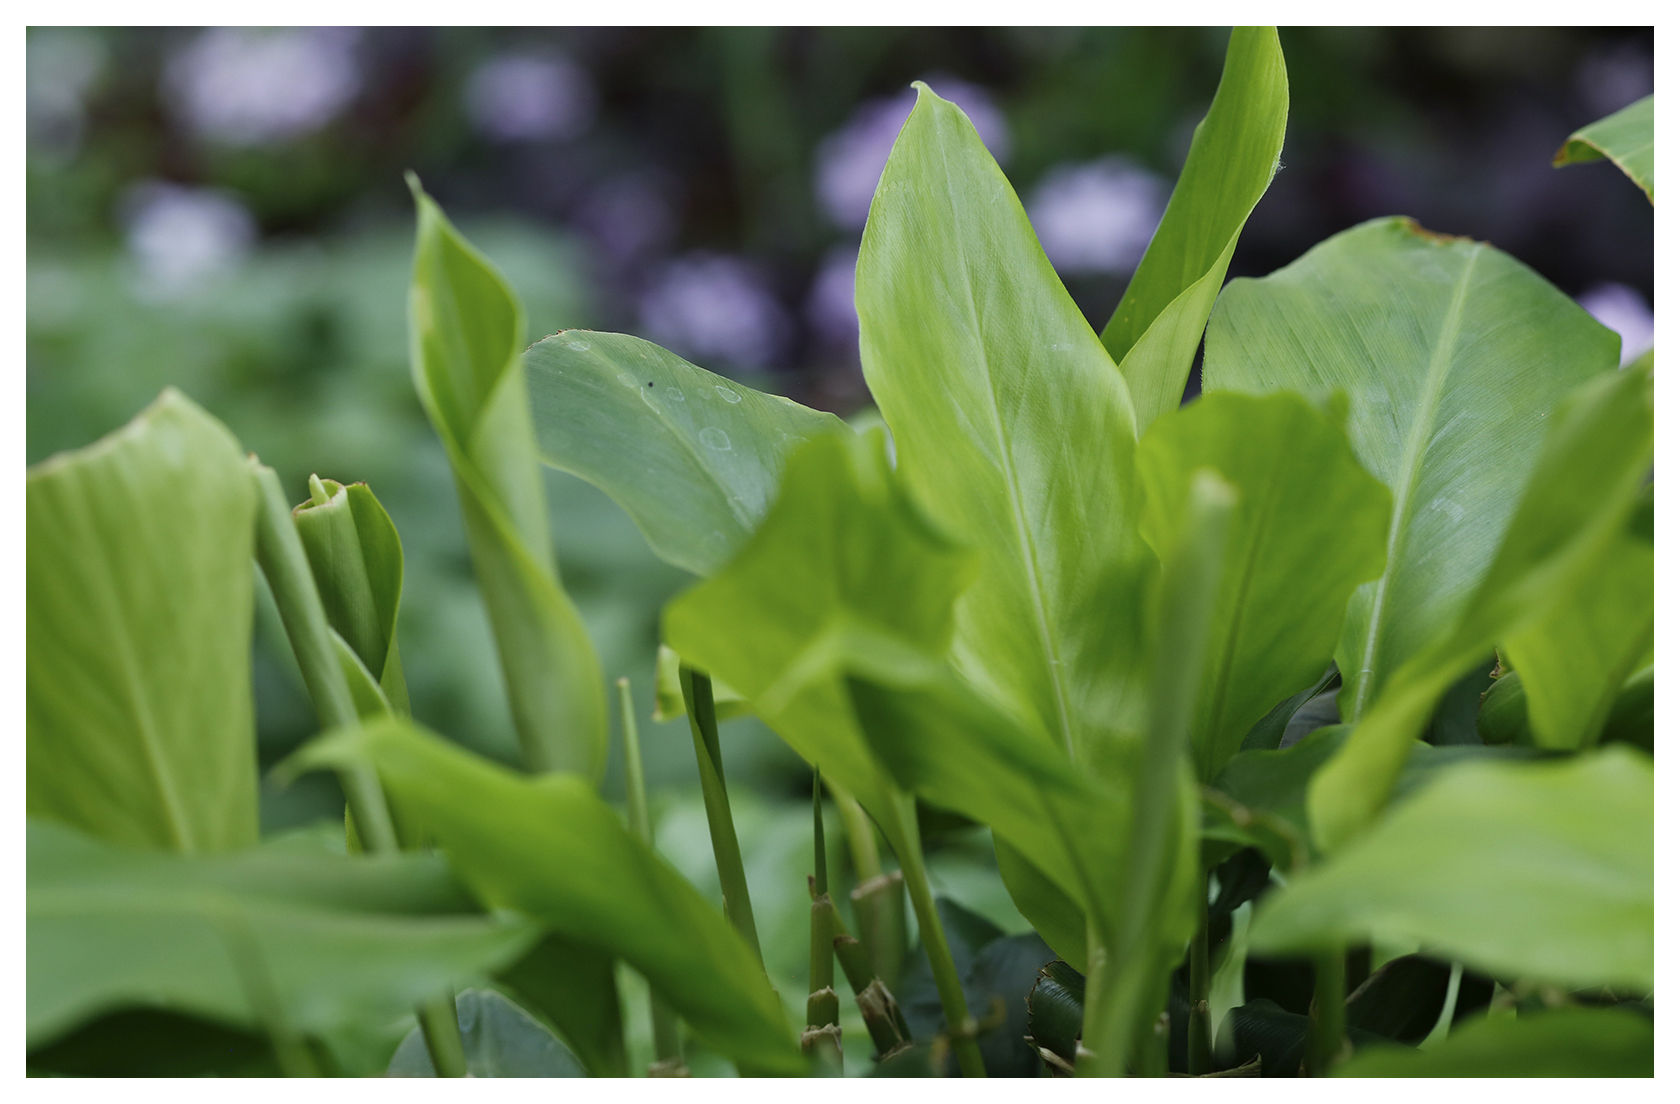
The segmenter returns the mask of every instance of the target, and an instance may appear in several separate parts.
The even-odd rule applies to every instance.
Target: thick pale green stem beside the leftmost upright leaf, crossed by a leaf
[[[349,696],[338,652],[333,650],[321,591],[316,590],[309,556],[292,524],[292,509],[274,469],[259,464],[255,457],[250,464],[262,491],[257,507],[257,565],[269,580],[281,623],[286,625],[286,639],[291,640],[297,669],[309,689],[309,701],[314,702],[323,729],[354,726],[356,702]],[[363,847],[370,852],[395,852],[396,828],[391,827],[378,775],[371,768],[349,768],[339,771],[338,780]]]

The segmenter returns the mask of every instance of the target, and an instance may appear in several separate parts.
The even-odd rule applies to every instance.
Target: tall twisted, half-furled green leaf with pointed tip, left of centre
[[[561,590],[526,395],[524,311],[410,176],[418,208],[408,348],[415,390],[455,472],[514,728],[533,771],[598,781],[606,692]]]

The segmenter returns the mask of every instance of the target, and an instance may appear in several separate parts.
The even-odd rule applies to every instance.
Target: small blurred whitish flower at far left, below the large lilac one
[[[244,203],[210,188],[148,180],[129,188],[123,207],[146,297],[175,297],[237,269],[257,239]]]

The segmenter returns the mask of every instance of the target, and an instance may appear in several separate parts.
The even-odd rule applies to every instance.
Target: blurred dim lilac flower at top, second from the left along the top
[[[465,104],[497,141],[576,138],[595,123],[595,84],[559,54],[497,54],[467,79]]]

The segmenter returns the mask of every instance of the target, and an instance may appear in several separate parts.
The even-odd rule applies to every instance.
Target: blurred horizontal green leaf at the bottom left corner
[[[314,842],[150,855],[29,827],[30,1047],[123,1007],[341,1044],[482,981],[536,936],[475,912],[433,857]]]

